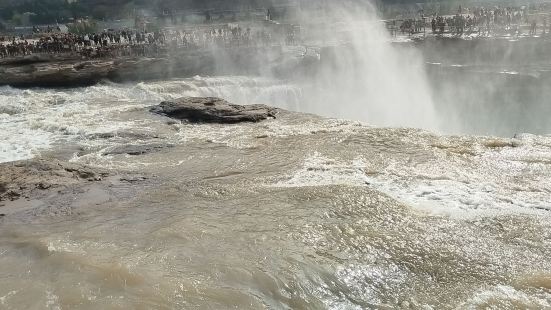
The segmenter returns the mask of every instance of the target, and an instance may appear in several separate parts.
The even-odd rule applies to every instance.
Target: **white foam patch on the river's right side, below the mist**
[[[446,158],[428,165],[389,158],[387,166],[373,172],[369,159],[361,156],[344,161],[314,153],[301,169],[268,186],[368,186],[417,210],[462,219],[541,215],[551,210],[551,149],[541,146],[546,138],[534,139],[539,147],[526,142],[482,152],[474,159],[475,169]]]

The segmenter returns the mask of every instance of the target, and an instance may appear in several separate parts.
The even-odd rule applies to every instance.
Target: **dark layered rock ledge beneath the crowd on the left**
[[[2,60],[0,86],[74,87],[102,80],[128,82],[195,75],[261,74],[294,56],[281,47],[182,50],[159,57],[116,59],[31,55]]]

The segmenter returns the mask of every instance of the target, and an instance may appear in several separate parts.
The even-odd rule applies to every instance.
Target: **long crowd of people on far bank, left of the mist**
[[[294,43],[289,34],[287,44]],[[32,37],[0,37],[0,58],[32,54],[78,54],[85,58],[159,56],[171,50],[230,48],[272,43],[272,34],[239,26],[163,31],[104,31],[91,34],[42,33]]]

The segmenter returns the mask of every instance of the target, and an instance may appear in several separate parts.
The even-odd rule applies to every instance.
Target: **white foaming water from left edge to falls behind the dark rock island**
[[[158,120],[125,119],[121,115],[184,96],[221,97],[237,104],[261,103],[299,110],[301,92],[281,81],[240,76],[107,83],[69,90],[2,87],[0,162],[30,159],[62,142],[105,148],[108,141],[87,137],[121,130],[153,130],[150,126]],[[200,134],[187,130],[185,139]],[[221,132],[217,136],[218,140],[226,139]],[[244,143],[234,142],[236,146]]]

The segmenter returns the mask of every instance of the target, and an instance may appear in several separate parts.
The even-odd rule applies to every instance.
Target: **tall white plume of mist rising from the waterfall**
[[[306,19],[310,19],[307,17]],[[308,111],[378,126],[437,130],[422,57],[395,49],[369,3],[328,4],[325,26],[313,26],[330,47],[305,96]]]

